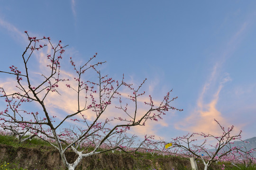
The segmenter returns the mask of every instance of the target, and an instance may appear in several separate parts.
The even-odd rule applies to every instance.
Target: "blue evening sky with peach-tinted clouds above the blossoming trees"
[[[103,73],[139,85],[156,101],[173,89],[170,111],[158,122],[134,128],[138,136],[170,140],[188,132],[218,134],[224,127],[256,136],[256,1],[214,0],[0,0],[0,69],[22,67],[31,36],[68,44],[64,58],[78,63],[96,52]],[[42,71],[40,53],[32,68]],[[62,69],[69,75],[68,60]],[[72,75],[71,75],[72,76]],[[36,80],[36,79],[35,79]],[[0,86],[12,84],[0,74]],[[52,114],[75,101],[50,102]],[[55,96],[50,96],[55,97]],[[63,109],[63,102],[65,107]],[[61,105],[61,106],[60,106]],[[0,110],[6,104],[0,101]],[[142,108],[143,111],[143,108]],[[111,114],[106,113],[106,116]],[[141,129],[142,128],[142,129]]]

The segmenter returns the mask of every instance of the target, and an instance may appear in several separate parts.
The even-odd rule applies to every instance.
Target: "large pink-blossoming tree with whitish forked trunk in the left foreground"
[[[108,75],[102,76],[98,66],[104,62],[91,64],[97,53],[80,67],[70,58],[76,76],[73,80],[66,79],[60,62],[67,45],[62,46],[61,41],[54,45],[50,37],[30,37],[27,31],[25,33],[28,45],[22,54],[22,72],[15,66],[9,67],[10,72],[0,71],[15,76],[17,83],[15,92],[8,92],[0,87],[0,97],[7,102],[6,109],[0,112],[0,125],[19,134],[29,133],[47,141],[59,151],[64,165],[69,170],[74,170],[82,158],[94,154],[115,149],[126,153],[137,151],[150,136],[138,141],[137,136],[129,136],[127,133],[131,127],[144,126],[148,120],[162,119],[168,110],[181,111],[170,105],[170,102],[177,98],[170,97],[171,91],[158,103],[153,102],[149,95],[148,101],[144,101],[142,106],[141,101],[146,100],[146,92],[141,92],[141,87],[146,79],[135,87],[126,83],[124,76],[121,81]],[[42,42],[46,44],[40,44]],[[47,64],[44,72],[40,73],[39,81],[38,76],[31,76],[31,60],[37,51],[42,51],[47,46]],[[92,74],[95,74],[94,77],[88,79]],[[49,111],[50,104],[47,99],[49,96],[62,97],[60,89],[63,88],[66,88],[65,92],[76,94],[76,109],[68,113],[61,111],[61,116],[57,117]],[[112,105],[114,107],[111,107]],[[37,107],[38,111],[30,111],[26,106]],[[146,110],[141,112],[141,107],[146,107]],[[107,118],[109,108],[115,109],[118,115]],[[67,127],[70,121],[75,125]],[[89,147],[93,147],[93,150],[86,151]],[[78,156],[73,163],[66,160],[64,153],[67,150],[72,150]]]

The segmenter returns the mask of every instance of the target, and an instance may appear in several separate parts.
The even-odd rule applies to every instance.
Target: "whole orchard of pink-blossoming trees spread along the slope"
[[[85,157],[115,151],[180,156],[192,158],[195,164],[198,159],[203,162],[204,170],[208,170],[214,162],[230,162],[235,167],[238,164],[246,167],[256,164],[252,154],[255,149],[231,146],[235,140],[243,141],[242,131],[233,134],[234,126],[226,129],[217,120],[222,130],[217,136],[192,133],[167,142],[155,140],[150,135],[145,135],[142,140],[136,134],[131,135],[128,133],[131,128],[158,121],[169,110],[182,111],[171,105],[177,99],[171,97],[172,90],[161,102],[155,102],[142,90],[146,79],[136,86],[127,83],[124,75],[121,80],[103,75],[100,66],[105,61],[94,62],[97,53],[79,64],[70,57],[73,74],[68,74],[61,67],[67,45],[62,45],[62,41],[52,43],[50,37],[31,37],[27,31],[25,34],[28,44],[21,56],[22,68],[14,64],[9,67],[9,72],[0,71],[15,78],[12,87],[0,87],[0,98],[6,102],[6,109],[0,112],[0,130],[17,136],[19,143],[34,137],[46,141],[58,150],[69,170],[74,170]],[[47,54],[42,56],[44,53],[40,51],[44,49]],[[41,69],[35,71],[32,69],[33,60],[38,55],[43,60],[38,66]],[[68,75],[73,77],[66,78]],[[57,114],[53,113],[52,103],[61,101],[64,96],[68,96],[72,104],[63,106],[68,108],[65,112],[59,110]],[[30,110],[30,107],[36,108],[36,111]],[[201,137],[206,140],[199,144],[197,139]],[[209,144],[210,139],[216,144]],[[170,147],[165,147],[166,144]],[[88,148],[93,150],[88,152]],[[66,159],[65,153],[70,151],[77,155],[74,162]],[[225,166],[222,167],[224,169]]]

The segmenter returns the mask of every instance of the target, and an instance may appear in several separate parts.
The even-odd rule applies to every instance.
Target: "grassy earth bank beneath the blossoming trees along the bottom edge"
[[[0,144],[8,150],[6,153],[13,153],[9,156],[5,155],[5,158],[0,160],[0,170],[65,170],[64,166],[61,166],[62,162],[59,159],[58,151],[51,144],[41,139],[33,138],[19,144],[14,136],[0,136]],[[89,150],[92,149],[89,148]],[[17,155],[20,155],[20,159],[17,158]],[[43,167],[49,157],[51,157],[50,161],[56,159],[54,163],[58,163],[59,166],[54,168],[50,165]],[[70,162],[74,157],[75,154],[71,152],[67,155]],[[31,162],[34,165],[31,165],[31,163],[26,164],[29,161],[27,159],[33,159]],[[108,152],[84,158],[83,160],[77,170],[191,170],[190,162],[187,158],[152,155],[150,153],[136,152],[126,154]],[[27,168],[28,164],[29,168]],[[256,165],[247,168],[243,165],[238,165],[239,169],[229,162],[214,163],[209,170],[221,170],[222,164],[225,164],[225,170],[256,170]],[[201,161],[198,162],[198,166],[200,170],[204,167]]]

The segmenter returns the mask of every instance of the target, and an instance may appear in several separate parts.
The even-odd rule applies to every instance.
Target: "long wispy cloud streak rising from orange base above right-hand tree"
[[[230,37],[227,47],[223,49],[219,60],[213,66],[210,76],[202,87],[197,100],[197,106],[194,110],[190,111],[190,115],[187,118],[175,124],[176,129],[189,132],[210,132],[216,134],[219,131],[219,127],[214,119],[220,121],[224,126],[229,126],[229,122],[224,119],[221,112],[217,109],[217,104],[219,102],[219,94],[224,84],[231,81],[231,78],[228,73],[221,73],[219,70],[236,50],[247,26],[247,22],[244,22],[237,32]],[[217,88],[214,87],[216,84]],[[208,97],[208,100],[206,97]]]

